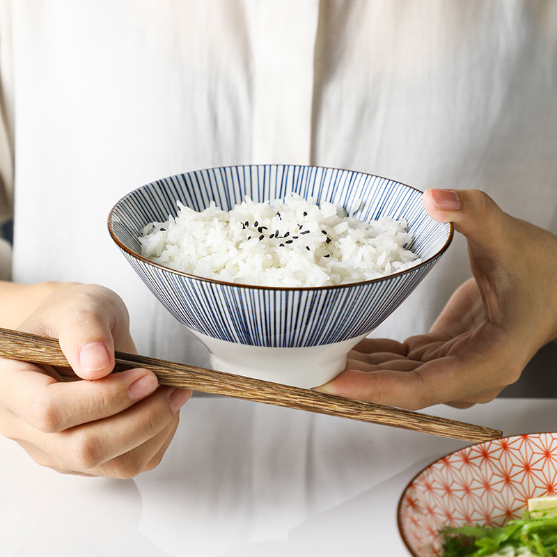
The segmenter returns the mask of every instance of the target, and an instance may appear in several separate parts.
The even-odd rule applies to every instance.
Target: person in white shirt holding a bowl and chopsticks
[[[59,338],[72,366],[0,360],[0,432],[39,464],[129,478],[160,462],[191,393],[148,370],[111,374],[115,348],[208,365],[105,228],[118,198],[165,175],[352,168],[425,190],[432,217],[455,223],[441,262],[324,391],[487,402],[557,338],[555,3],[0,10],[0,214],[15,226],[0,325]]]

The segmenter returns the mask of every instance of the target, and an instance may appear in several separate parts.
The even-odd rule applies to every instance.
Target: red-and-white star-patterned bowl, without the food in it
[[[441,556],[444,526],[502,526],[524,516],[528,499],[557,495],[557,433],[469,446],[437,460],[407,485],[398,529],[414,557]]]

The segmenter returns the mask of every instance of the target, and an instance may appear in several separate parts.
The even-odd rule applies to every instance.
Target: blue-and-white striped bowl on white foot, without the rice
[[[354,217],[406,219],[408,247],[422,262],[372,281],[315,288],[225,283],[174,271],[141,256],[146,224],[175,216],[180,201],[196,211],[210,201],[223,210],[288,194],[352,207]],[[132,191],[109,214],[109,232],[144,283],[174,317],[203,342],[215,369],[272,382],[312,387],[345,366],[347,352],[404,301],[453,238],[434,221],[421,191],[374,175],[315,166],[230,166],[157,180]]]

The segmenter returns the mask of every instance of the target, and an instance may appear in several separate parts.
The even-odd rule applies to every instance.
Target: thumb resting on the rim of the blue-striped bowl
[[[477,189],[426,189],[423,205],[436,221],[451,222],[468,241],[478,264],[506,259],[511,217],[483,191]]]

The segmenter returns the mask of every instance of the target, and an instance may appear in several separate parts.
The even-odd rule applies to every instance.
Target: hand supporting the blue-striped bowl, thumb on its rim
[[[557,338],[557,236],[481,191],[427,190],[423,203],[466,237],[473,277],[429,333],[364,339],[346,370],[317,390],[407,409],[469,407],[493,400]]]

